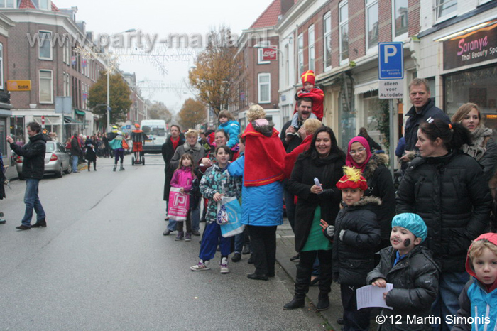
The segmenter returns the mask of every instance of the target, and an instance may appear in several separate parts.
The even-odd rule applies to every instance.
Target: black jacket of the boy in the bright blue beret
[[[391,309],[383,309],[382,315],[401,315],[402,330],[431,330],[431,325],[407,323],[408,315],[421,317],[430,315],[432,303],[438,293],[438,267],[432,259],[432,253],[424,246],[415,246],[406,256],[393,262],[397,251],[392,246],[380,251],[380,264],[368,273],[366,283],[371,284],[376,278],[383,278],[393,284],[393,289],[386,295],[386,304]],[[395,318],[395,321],[398,319]],[[390,320],[386,319],[386,330],[394,330]],[[395,325],[393,325],[395,327]],[[383,330],[383,325],[382,329]],[[398,330],[398,329],[395,329]]]

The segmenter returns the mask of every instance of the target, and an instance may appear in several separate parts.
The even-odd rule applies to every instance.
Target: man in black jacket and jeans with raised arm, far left
[[[43,178],[45,171],[45,136],[40,133],[40,124],[36,122],[28,123],[29,142],[24,146],[18,146],[13,142],[11,136],[7,136],[7,142],[18,156],[23,156],[23,178],[26,178],[26,192],[24,193],[24,203],[26,212],[21,221],[21,225],[16,227],[20,230],[28,230],[31,227],[46,227],[45,210],[38,198],[38,183]],[[36,212],[36,223],[31,225],[33,208]]]

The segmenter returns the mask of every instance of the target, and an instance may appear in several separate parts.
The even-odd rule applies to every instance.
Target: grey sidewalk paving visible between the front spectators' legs
[[[276,230],[276,261],[288,273],[295,282],[295,274],[297,273],[298,261],[290,261],[290,257],[297,254],[295,252],[294,234],[288,219],[285,218],[283,225],[280,225]],[[320,294],[317,286],[311,286],[307,298],[317,305],[317,296]],[[292,298],[288,298],[290,302]],[[308,303],[305,303],[306,307]],[[340,287],[337,283],[332,283],[332,292],[329,293],[329,309],[320,312],[333,330],[342,330],[343,325],[337,323],[338,318],[342,318],[342,300],[340,299]]]

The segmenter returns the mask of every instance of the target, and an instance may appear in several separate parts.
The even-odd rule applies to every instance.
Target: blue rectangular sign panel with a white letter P
[[[402,80],[403,78],[403,43],[378,43],[378,79]]]

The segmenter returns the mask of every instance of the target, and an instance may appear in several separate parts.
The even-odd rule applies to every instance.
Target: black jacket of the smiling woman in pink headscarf
[[[387,168],[388,156],[384,153],[373,155],[362,174],[368,181],[366,197],[379,197],[381,206],[377,208],[378,224],[381,229],[381,239],[390,239],[392,219],[395,216],[395,186],[392,175]]]

